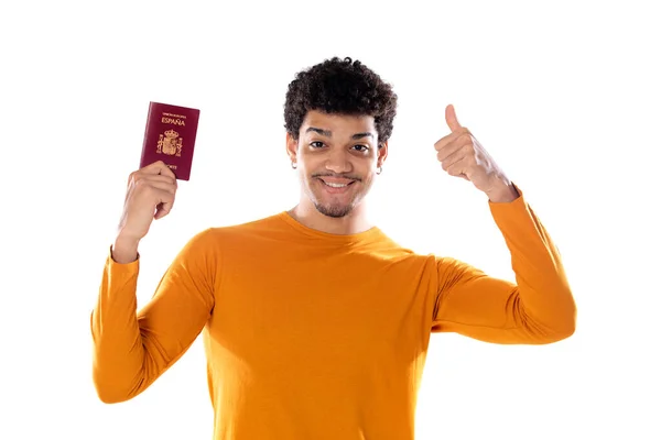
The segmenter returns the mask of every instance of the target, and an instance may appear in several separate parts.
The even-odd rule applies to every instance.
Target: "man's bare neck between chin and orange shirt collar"
[[[304,201],[301,201],[288,212],[304,227],[332,234],[356,234],[373,227],[367,218],[365,200],[356,206],[351,212],[340,218],[324,216],[314,206]]]

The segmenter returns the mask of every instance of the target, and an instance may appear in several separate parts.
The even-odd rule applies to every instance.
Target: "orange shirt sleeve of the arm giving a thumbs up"
[[[520,190],[516,200],[489,201],[489,208],[510,251],[516,283],[455,258],[436,257],[432,331],[503,344],[568,338],[575,329],[576,306],[549,233]]]

